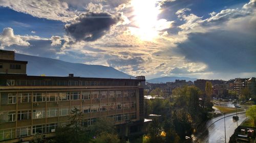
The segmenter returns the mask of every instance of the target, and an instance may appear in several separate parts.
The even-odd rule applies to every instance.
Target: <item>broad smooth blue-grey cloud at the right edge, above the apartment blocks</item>
[[[256,41],[254,34],[220,31],[191,33],[178,43],[175,52],[190,62],[201,62],[208,71],[239,73],[256,71]]]

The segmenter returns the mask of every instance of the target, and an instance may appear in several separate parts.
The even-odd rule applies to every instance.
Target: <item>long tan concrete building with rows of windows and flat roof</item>
[[[9,70],[13,63],[20,69]],[[36,133],[53,136],[57,126],[71,122],[74,107],[83,112],[85,129],[98,118],[109,117],[125,136],[143,130],[142,77],[27,76],[22,68],[27,62],[9,59],[0,60],[0,64],[9,71],[0,74],[0,141],[26,141]]]

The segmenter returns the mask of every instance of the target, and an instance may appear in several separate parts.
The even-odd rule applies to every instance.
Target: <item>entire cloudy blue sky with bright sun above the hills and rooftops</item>
[[[0,49],[146,79],[256,76],[256,0],[0,0]]]

